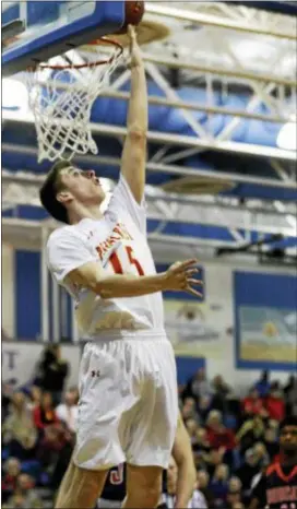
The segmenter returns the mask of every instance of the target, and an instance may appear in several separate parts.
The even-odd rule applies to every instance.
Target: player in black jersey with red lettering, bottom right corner
[[[271,464],[252,492],[250,509],[297,508],[297,417],[281,424],[281,460]]]

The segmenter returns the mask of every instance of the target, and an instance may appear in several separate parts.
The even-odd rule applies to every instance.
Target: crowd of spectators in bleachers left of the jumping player
[[[46,348],[32,381],[2,383],[2,507],[52,508],[75,440],[79,393],[68,363]]]

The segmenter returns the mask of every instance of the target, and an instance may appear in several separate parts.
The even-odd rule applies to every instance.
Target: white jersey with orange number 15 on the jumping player
[[[103,299],[67,280],[71,271],[91,261],[100,262],[110,275],[156,273],[146,241],[145,204],[136,203],[122,176],[104,217],[85,218],[55,230],[48,239],[47,256],[51,274],[75,299],[83,338],[130,335],[138,330],[164,332],[162,293]]]

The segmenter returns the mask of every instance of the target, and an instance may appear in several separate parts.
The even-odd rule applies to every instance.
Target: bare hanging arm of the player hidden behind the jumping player
[[[176,508],[188,507],[195,484],[195,466],[191,441],[181,415],[178,416],[173,457],[178,466]]]

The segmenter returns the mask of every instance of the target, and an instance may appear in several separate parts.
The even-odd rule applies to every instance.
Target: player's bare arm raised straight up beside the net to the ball
[[[145,186],[147,91],[141,50],[133,26],[129,26],[128,34],[131,51],[131,97],[121,173],[136,202],[141,203]]]

